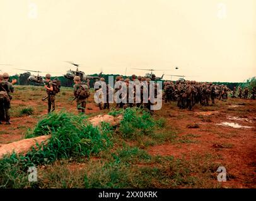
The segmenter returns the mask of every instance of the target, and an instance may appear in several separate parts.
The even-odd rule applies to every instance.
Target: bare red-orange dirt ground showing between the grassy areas
[[[231,102],[230,102],[231,101]],[[232,102],[233,101],[233,102]],[[243,107],[230,108],[228,105],[236,105],[245,102]],[[26,104],[37,106],[39,102],[23,102],[13,100],[13,105]],[[33,128],[38,121],[38,116],[47,112],[47,103],[44,102],[44,111],[37,116],[23,116],[11,118],[11,126],[0,126],[0,144],[11,143],[24,138],[28,128]],[[57,111],[69,108],[70,112],[76,113],[76,104],[65,104],[57,102]],[[90,110],[88,108],[91,108]],[[230,108],[230,109],[229,109]],[[178,136],[194,134],[196,138],[190,138],[198,143],[165,143],[150,146],[147,151],[150,155],[184,156],[189,158],[193,153],[211,153],[219,155],[221,159],[216,162],[226,165],[227,173],[231,175],[229,182],[223,183],[223,187],[247,188],[256,187],[256,101],[252,100],[229,100],[226,104],[219,101],[212,110],[219,111],[208,118],[211,122],[202,121],[202,116],[195,112],[201,112],[202,107],[194,107],[194,111],[180,110],[176,106],[164,104],[161,111],[156,111],[155,116],[165,117],[171,128],[177,129]],[[211,107],[209,109],[211,111]],[[86,114],[98,114],[100,111],[94,102],[86,104]],[[248,117],[252,122],[234,121],[227,119],[228,116]],[[207,116],[204,116],[207,117]],[[221,122],[236,122],[243,126],[252,128],[231,128],[218,126]],[[188,124],[199,124],[199,128],[187,128]],[[22,128],[21,128],[22,127]],[[248,181],[248,183],[247,183]]]

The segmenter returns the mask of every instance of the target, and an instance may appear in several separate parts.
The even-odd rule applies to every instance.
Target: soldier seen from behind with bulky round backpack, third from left
[[[90,96],[88,86],[81,83],[79,76],[74,77],[74,97],[76,99],[76,107],[79,113],[85,113],[86,98]]]

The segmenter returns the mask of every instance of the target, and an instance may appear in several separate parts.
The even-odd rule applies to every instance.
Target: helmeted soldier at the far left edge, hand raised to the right
[[[0,83],[0,92],[6,93],[6,99],[3,100],[3,109],[1,111],[1,116],[2,120],[6,121],[6,124],[11,124],[9,115],[9,109],[11,108],[11,99],[13,98],[11,96],[11,93],[13,93],[15,90],[13,84],[15,84],[17,80],[14,79],[11,82],[8,82],[8,80],[8,73],[3,73],[3,80],[1,80]]]

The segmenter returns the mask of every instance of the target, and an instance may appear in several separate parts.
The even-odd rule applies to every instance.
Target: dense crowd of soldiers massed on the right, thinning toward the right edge
[[[227,85],[215,85],[210,83],[201,83],[189,80],[177,80],[175,83],[170,81],[164,82],[163,97],[165,102],[177,101],[177,106],[180,109],[192,110],[195,104],[202,106],[209,106],[215,104],[215,99],[228,99],[228,92],[230,89]],[[241,87],[238,97],[241,98]],[[248,97],[248,87],[245,87],[244,97]],[[255,87],[252,90],[252,98],[255,99]]]

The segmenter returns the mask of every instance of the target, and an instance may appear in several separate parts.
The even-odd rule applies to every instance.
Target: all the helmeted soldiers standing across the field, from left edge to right
[[[55,95],[60,91],[59,87],[60,85],[57,85],[55,80],[51,80],[51,76],[49,73],[45,75],[46,83],[44,85],[47,97],[45,99],[48,100],[48,113],[55,110]],[[101,78],[100,81],[105,82],[104,78]],[[126,78],[122,76],[117,76],[115,78],[115,82],[120,82],[119,89],[112,89],[110,85],[106,84],[107,90],[106,90],[106,101],[100,102],[98,104],[98,107],[100,109],[109,109],[110,104],[108,101],[108,93],[110,90],[112,90],[113,93],[117,92],[118,90],[122,89],[122,86],[126,85],[126,87],[129,87],[129,82],[134,81],[135,84],[140,84],[140,93],[141,96],[140,100],[141,102],[136,102],[136,90],[138,88],[134,85],[134,91],[133,91],[133,99],[134,101],[129,101],[131,98],[131,95],[129,97],[129,90],[127,90],[127,94],[122,96],[122,94],[119,95],[120,102],[117,102],[115,107],[119,108],[126,108],[126,107],[144,107],[146,109],[149,109],[151,111],[151,107],[153,105],[153,102],[151,101],[151,97],[149,94],[149,90],[144,90],[144,85],[148,85],[151,81],[151,79],[141,76],[132,75],[131,79]],[[3,75],[0,74],[0,124],[2,122],[6,122],[6,124],[11,124],[10,122],[10,115],[9,115],[9,109],[11,108],[11,93],[14,92],[13,84],[15,84],[17,81],[11,80],[9,82],[9,75],[8,73],[3,73]],[[161,91],[157,90],[158,84],[154,84],[154,97],[157,97]],[[100,89],[96,89],[100,90]],[[228,99],[228,92],[230,89],[227,87],[227,85],[214,85],[211,82],[210,83],[201,83],[201,82],[195,82],[195,81],[189,81],[189,80],[177,80],[176,82],[171,81],[165,81],[163,82],[163,99],[165,102],[171,102],[171,101],[177,101],[177,106],[180,107],[180,109],[189,109],[192,110],[192,107],[195,104],[201,104],[202,106],[209,106],[209,102],[211,100],[211,104],[215,104],[215,99],[219,100],[225,100]],[[90,96],[90,86],[89,83],[83,83],[81,82],[81,78],[79,76],[74,77],[74,100],[76,100],[76,106],[79,112],[84,113],[86,108],[86,100]],[[148,101],[144,102],[144,94],[146,93],[146,99]],[[252,99],[255,99],[255,93],[256,88],[253,87],[251,94]],[[242,91],[241,87],[238,87],[238,97],[244,97],[245,99],[248,98],[249,90],[248,87],[245,87],[245,89]],[[232,97],[236,97],[236,87],[234,87],[232,92]]]

